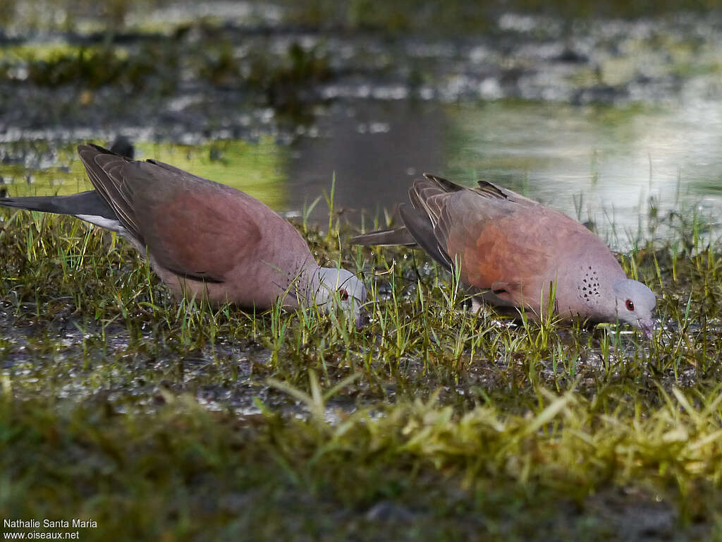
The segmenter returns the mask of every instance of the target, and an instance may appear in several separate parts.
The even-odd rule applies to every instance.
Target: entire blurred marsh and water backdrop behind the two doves
[[[335,178],[386,220],[430,171],[620,247],[718,210],[721,98],[717,0],[2,0],[0,192],[87,189],[74,146],[123,136],[287,215]]]

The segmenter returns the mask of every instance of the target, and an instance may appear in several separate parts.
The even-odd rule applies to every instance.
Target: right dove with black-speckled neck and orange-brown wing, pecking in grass
[[[419,246],[452,272],[474,300],[538,319],[625,322],[651,336],[654,293],[627,278],[598,236],[562,212],[487,181],[460,186],[424,174],[399,205],[403,225],[352,244]]]

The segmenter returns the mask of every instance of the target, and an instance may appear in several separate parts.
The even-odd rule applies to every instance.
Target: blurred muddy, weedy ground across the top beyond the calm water
[[[707,2],[664,17],[677,4],[666,2],[651,19],[456,0],[12,4],[14,15],[0,14],[10,140],[38,129],[80,139],[97,126],[152,130],[148,139],[250,138],[294,124],[281,116],[311,124],[321,106],[345,100],[718,102],[722,39]],[[277,120],[254,121],[259,107]]]

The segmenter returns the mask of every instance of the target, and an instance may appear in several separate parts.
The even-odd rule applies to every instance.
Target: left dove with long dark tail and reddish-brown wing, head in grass
[[[339,267],[321,267],[291,223],[245,192],[158,160],[79,145],[93,190],[5,197],[0,205],[71,215],[129,241],[175,297],[243,309],[316,304],[364,323],[366,289]]]

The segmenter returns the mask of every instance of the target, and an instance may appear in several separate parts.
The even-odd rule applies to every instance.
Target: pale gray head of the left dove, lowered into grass
[[[318,287],[313,301],[326,313],[338,304],[358,328],[365,322],[362,305],[366,302],[366,288],[356,275],[345,269],[318,267]]]

